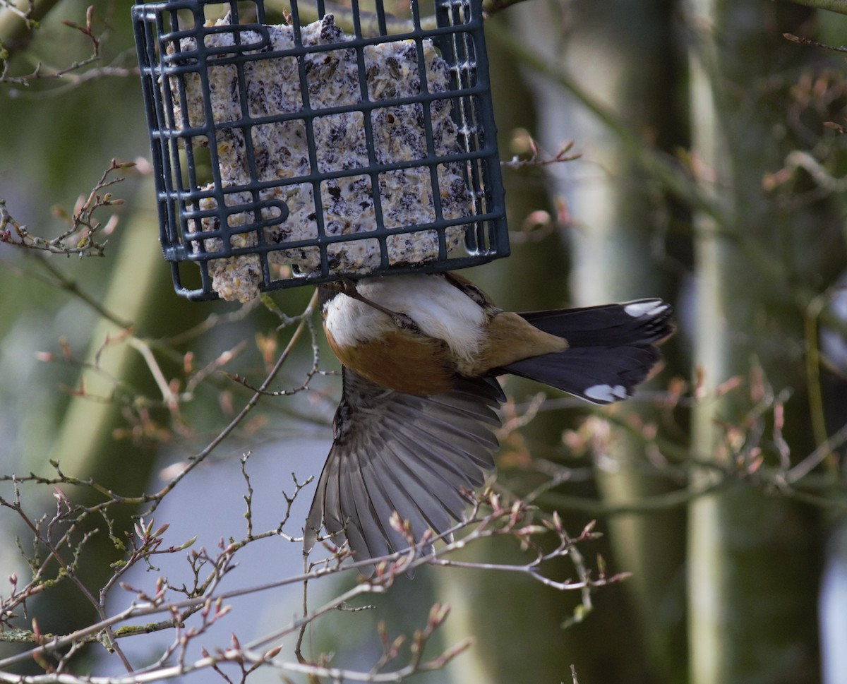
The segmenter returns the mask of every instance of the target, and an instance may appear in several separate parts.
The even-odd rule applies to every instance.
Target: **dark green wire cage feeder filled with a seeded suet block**
[[[132,8],[178,294],[508,255],[481,0],[371,2]]]

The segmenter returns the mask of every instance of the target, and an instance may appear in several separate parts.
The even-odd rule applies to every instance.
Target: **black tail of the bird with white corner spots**
[[[661,358],[656,345],[673,334],[671,306],[659,299],[520,315],[566,339],[568,348],[496,372],[530,378],[595,404],[627,399]]]

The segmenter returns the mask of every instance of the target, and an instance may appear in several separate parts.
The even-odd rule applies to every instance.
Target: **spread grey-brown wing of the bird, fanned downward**
[[[462,379],[450,392],[422,397],[384,389],[349,368],[343,376],[335,440],[306,521],[306,550],[321,527],[336,544],[348,541],[356,560],[406,549],[390,526],[394,511],[416,539],[427,529],[445,532],[466,508],[461,489],[478,487],[494,467],[490,428],[501,424],[500,385]]]

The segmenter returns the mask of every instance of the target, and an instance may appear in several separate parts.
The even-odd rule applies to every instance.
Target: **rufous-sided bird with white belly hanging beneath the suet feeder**
[[[467,490],[494,468],[506,373],[593,404],[625,400],[673,334],[661,299],[515,313],[456,272],[341,280],[318,287],[324,333],[341,363],[333,444],[304,527],[308,554],[325,528],[359,571],[444,535]],[[431,544],[424,543],[431,553]]]

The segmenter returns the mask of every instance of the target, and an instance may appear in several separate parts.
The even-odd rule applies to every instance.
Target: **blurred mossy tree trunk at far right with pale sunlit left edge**
[[[771,296],[772,280],[761,271],[751,273],[757,261],[749,257],[754,251],[772,252],[778,214],[761,200],[761,177],[781,159],[767,118],[758,109],[765,106],[735,95],[761,79],[777,57],[767,41],[765,26],[771,19],[767,6],[691,0],[687,12],[686,25],[693,36],[689,40],[692,157],[708,171],[700,181],[702,194],[723,207],[726,217],[721,223],[706,212],[694,214],[693,374],[701,400],[692,416],[692,454],[698,461],[711,460],[721,467],[732,451],[723,426],[745,429],[750,404],[743,392],[719,396],[721,384],[734,376],[749,378],[754,355],[776,387],[789,383],[796,387],[798,381],[772,349],[755,343],[763,339],[761,311]],[[772,325],[778,321],[777,334],[800,339],[790,304],[770,315]],[[807,432],[800,428],[786,439],[800,445]],[[713,468],[695,469],[691,488],[710,486],[716,473]],[[768,499],[752,488],[722,489],[692,500],[691,684],[817,680],[811,562],[816,539],[805,510],[786,500]]]

